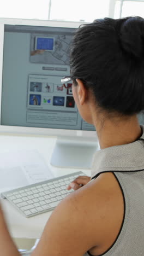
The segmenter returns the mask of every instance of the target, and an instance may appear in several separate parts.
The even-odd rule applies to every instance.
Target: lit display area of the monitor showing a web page
[[[76,28],[4,25],[1,125],[94,131],[61,79]]]

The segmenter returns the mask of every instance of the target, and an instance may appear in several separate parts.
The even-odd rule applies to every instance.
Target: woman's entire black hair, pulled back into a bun
[[[133,115],[144,109],[144,19],[98,19],[77,30],[70,73],[92,90],[100,108]]]

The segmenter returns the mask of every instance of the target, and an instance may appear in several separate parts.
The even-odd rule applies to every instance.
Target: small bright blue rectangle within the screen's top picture
[[[53,38],[37,38],[37,50],[53,50]]]

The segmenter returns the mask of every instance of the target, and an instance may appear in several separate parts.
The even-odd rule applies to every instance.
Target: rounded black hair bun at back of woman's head
[[[123,19],[120,28],[120,41],[123,50],[136,57],[143,59],[144,53],[144,19],[141,17],[128,17]]]

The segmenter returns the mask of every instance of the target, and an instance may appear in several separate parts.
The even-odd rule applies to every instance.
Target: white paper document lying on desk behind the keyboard
[[[53,178],[37,150],[0,154],[0,193]]]

